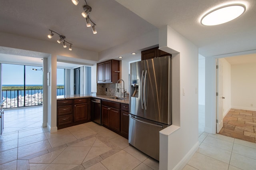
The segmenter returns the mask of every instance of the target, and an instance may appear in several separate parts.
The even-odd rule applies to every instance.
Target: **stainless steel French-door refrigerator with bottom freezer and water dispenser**
[[[129,144],[159,160],[159,131],[172,124],[171,57],[130,64]]]

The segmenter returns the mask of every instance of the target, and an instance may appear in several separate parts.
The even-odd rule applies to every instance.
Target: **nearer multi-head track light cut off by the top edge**
[[[73,2],[73,4],[75,4],[75,5],[77,5],[78,4],[78,2],[79,2],[79,0],[71,0],[72,2]],[[87,2],[86,2],[86,0],[84,0],[84,2],[85,2],[85,5],[83,6],[83,12],[82,12],[82,16],[86,19],[86,26],[87,27],[91,27],[92,25],[91,25],[91,23],[90,22],[92,22],[92,24],[93,24],[93,26],[92,26],[92,33],[93,34],[97,34],[97,31],[96,31],[96,29],[95,29],[95,26],[96,26],[96,24],[91,20],[91,18],[89,17],[89,13],[92,11],[92,7],[90,7],[89,5],[87,5]]]

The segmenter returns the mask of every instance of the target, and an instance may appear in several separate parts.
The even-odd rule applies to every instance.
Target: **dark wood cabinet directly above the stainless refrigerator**
[[[155,48],[141,51],[141,60],[152,59],[152,58],[156,58],[156,57],[164,57],[167,55],[172,56],[172,54],[166,53],[166,52],[158,49],[158,47],[155,47]]]

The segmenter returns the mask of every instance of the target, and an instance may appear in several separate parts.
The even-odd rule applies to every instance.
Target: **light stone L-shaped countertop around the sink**
[[[129,99],[124,99],[124,100],[117,100],[117,99],[110,99],[110,97],[114,96],[108,96],[108,95],[96,95],[96,96],[91,96],[91,95],[61,95],[57,96],[57,100],[64,100],[64,99],[79,99],[79,98],[97,98],[97,99],[104,99],[108,101],[114,101],[118,103],[124,103],[124,104],[129,104]]]

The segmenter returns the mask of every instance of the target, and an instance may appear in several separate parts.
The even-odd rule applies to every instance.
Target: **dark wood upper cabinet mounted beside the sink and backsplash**
[[[97,63],[97,83],[116,83],[120,77],[120,61],[108,60]]]

